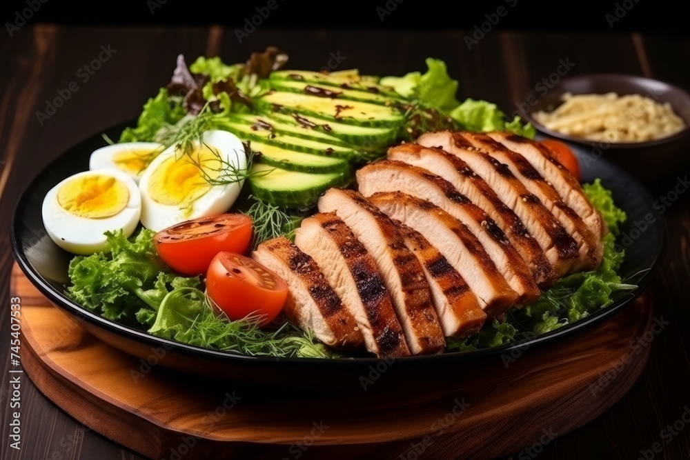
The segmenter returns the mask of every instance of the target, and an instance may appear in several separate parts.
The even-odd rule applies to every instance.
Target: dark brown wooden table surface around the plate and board
[[[141,1],[140,8],[145,3]],[[397,5],[402,9],[405,4]],[[166,7],[164,2],[159,6],[161,11]],[[511,8],[511,2],[506,1],[506,8]],[[615,6],[612,3],[607,8],[613,12]],[[374,10],[371,6],[368,14],[375,14]],[[494,11],[495,7],[486,6],[486,14]],[[599,22],[605,20],[605,12],[602,10]],[[633,13],[629,12],[631,17]],[[36,18],[41,20],[40,11]],[[473,24],[488,20],[482,14],[466,19],[462,28],[434,30],[271,28],[266,19],[266,25],[242,37],[242,43],[236,28],[230,26],[119,26],[98,23],[97,19],[92,26],[28,19],[21,27],[0,32],[0,356],[10,354],[9,279],[14,257],[8,228],[19,194],[37,172],[70,146],[137,117],[146,99],[169,81],[177,54],[188,59],[217,54],[233,63],[244,61],[250,52],[277,45],[288,52],[293,68],[319,69],[337,57],[339,69],[359,68],[380,75],[424,70],[424,59],[437,57],[446,61],[449,73],[460,81],[461,100],[486,99],[506,112],[516,110],[525,94],[563,62],[571,64],[569,75],[620,72],[661,79],[690,90],[690,37],[658,30],[635,32],[624,26],[624,19],[616,30],[608,26],[579,31],[497,26],[471,47],[466,37],[475,32]],[[640,20],[639,15],[635,20]],[[103,54],[104,49],[110,52]],[[92,74],[80,71],[99,59],[99,54],[98,70]],[[60,94],[68,94],[63,106],[50,118],[39,120],[42,117],[37,112],[46,112],[46,101]],[[688,172],[670,174],[685,177]],[[676,185],[676,179],[646,185],[653,196],[661,196]],[[689,204],[690,193],[680,194],[664,212],[669,251],[652,292],[654,315],[669,321],[669,326],[653,339],[649,363],[640,379],[598,419],[561,434],[543,449],[515,452],[515,458],[534,458],[537,454],[540,459],[690,458]],[[69,417],[28,379],[21,386],[21,450],[11,448],[9,420],[14,409],[11,395],[8,397],[9,359],[3,358],[0,368],[0,458],[142,458]],[[247,454],[266,458],[260,446]]]

